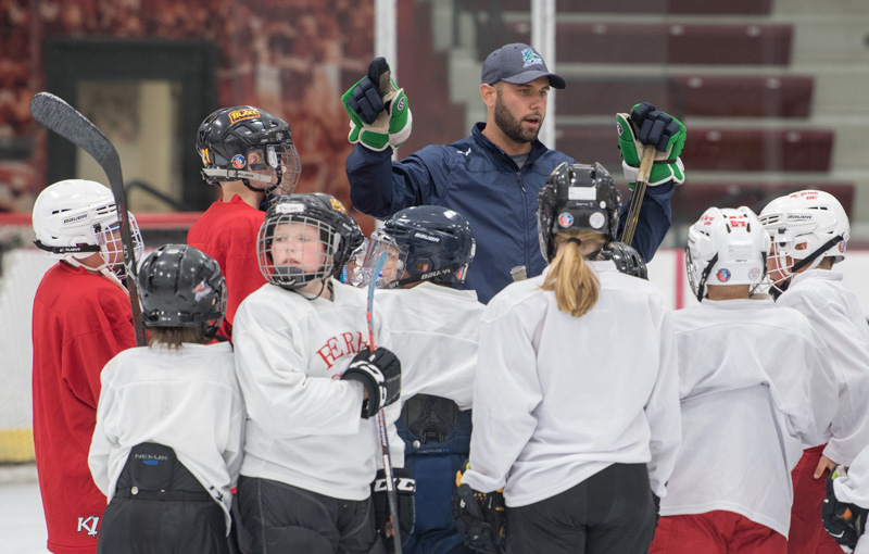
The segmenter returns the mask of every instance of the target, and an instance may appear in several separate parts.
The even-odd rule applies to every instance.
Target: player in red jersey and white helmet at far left
[[[100,372],[136,345],[124,275],[117,209],[108,187],[62,180],[34,204],[36,245],[58,264],[36,291],[33,313],[34,446],[48,550],[97,550],[105,496],[93,484],[87,451]],[[130,216],[136,255],[141,236]]]

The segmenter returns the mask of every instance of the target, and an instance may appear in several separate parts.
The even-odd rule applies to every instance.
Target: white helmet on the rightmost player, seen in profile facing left
[[[772,285],[780,290],[803,267],[817,267],[828,256],[833,263],[845,259],[851,224],[829,192],[801,190],[777,198],[760,212],[760,223],[772,239],[770,257],[778,269]]]

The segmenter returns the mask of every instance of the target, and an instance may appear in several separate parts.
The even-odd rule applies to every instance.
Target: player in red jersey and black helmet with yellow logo
[[[202,177],[219,198],[190,228],[187,243],[221,264],[229,297],[218,336],[231,340],[239,303],[266,282],[256,268],[266,199],[291,193],[302,164],[287,122],[251,105],[209,115],[199,126],[197,151]]]

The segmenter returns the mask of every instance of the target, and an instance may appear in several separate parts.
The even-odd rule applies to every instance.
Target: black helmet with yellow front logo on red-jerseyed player
[[[252,105],[222,108],[205,117],[197,134],[197,152],[202,177],[212,185],[241,180],[251,190],[289,194],[302,171],[287,122]],[[252,152],[262,162],[249,164]],[[269,168],[273,175],[254,173]]]

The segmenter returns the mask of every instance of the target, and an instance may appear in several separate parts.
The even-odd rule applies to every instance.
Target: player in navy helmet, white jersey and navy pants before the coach
[[[380,254],[388,255],[378,284],[386,289],[377,291],[376,310],[404,368],[396,426],[404,440],[404,468],[416,482],[415,499],[410,498],[416,511],[413,533],[402,529],[404,554],[470,552],[456,531],[450,499],[455,473],[468,456],[486,306],[474,291],[452,285],[465,279],[474,250],[474,235],[462,214],[433,205],[406,207],[373,234],[363,267],[370,276]],[[395,474],[405,475],[398,468]],[[398,489],[401,504],[408,487]],[[385,494],[375,492],[374,499],[378,515],[386,515]],[[399,513],[406,525],[403,505]]]

